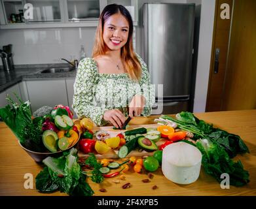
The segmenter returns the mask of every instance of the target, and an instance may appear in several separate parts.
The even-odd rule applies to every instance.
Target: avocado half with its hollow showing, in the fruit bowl
[[[57,152],[58,135],[51,130],[46,130],[43,133],[43,144],[50,152]]]

